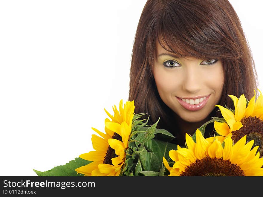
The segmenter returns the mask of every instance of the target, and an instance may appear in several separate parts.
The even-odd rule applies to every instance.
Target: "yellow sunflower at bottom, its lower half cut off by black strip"
[[[214,137],[207,140],[200,130],[196,130],[196,143],[186,134],[187,148],[178,145],[170,150],[169,157],[175,161],[172,167],[163,157],[163,164],[170,172],[169,176],[263,176],[263,158],[253,149],[254,140],[246,143],[246,135],[233,145],[230,137]]]

